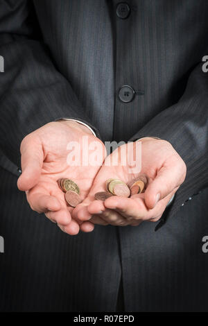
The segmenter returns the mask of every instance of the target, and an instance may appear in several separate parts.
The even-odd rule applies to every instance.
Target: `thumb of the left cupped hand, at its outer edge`
[[[26,191],[37,185],[40,178],[44,153],[41,142],[35,137],[25,137],[21,141],[21,175],[17,187]]]

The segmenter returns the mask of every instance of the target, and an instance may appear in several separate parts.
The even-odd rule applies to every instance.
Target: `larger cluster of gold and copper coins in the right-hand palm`
[[[132,180],[128,185],[119,179],[107,179],[105,182],[106,191],[97,192],[94,198],[96,200],[106,200],[111,196],[129,197],[141,194],[146,189],[147,181],[145,175],[139,175],[139,178]]]

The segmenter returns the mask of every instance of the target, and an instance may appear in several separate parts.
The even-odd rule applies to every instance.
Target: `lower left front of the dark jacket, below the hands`
[[[121,277],[116,229],[69,237],[31,210],[14,175],[0,169],[0,178],[0,311],[114,311]]]

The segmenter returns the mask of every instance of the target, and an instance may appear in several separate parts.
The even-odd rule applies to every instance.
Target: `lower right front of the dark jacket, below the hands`
[[[162,229],[154,223],[119,228],[126,311],[207,311],[208,189],[179,209]],[[133,248],[133,249],[132,249]]]

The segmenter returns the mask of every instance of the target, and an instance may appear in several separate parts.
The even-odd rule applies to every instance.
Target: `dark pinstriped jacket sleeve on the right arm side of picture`
[[[208,186],[208,74],[199,63],[191,72],[180,101],[162,111],[130,140],[153,136],[169,141],[187,164],[170,214]]]

